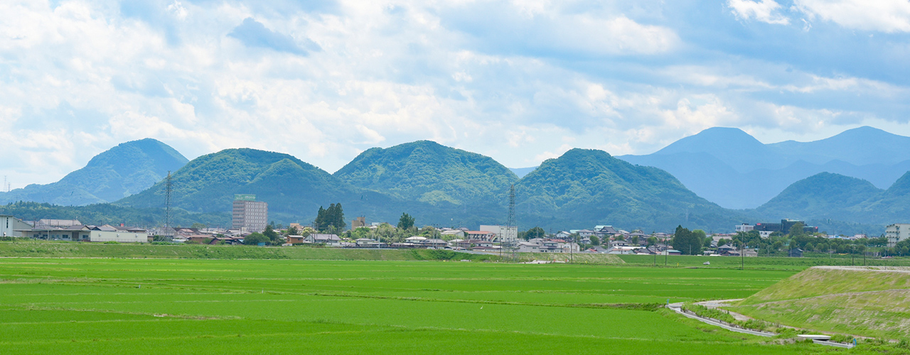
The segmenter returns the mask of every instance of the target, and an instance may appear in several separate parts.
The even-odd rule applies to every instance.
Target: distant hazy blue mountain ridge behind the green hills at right
[[[725,208],[749,209],[816,173],[839,173],[887,188],[910,170],[910,137],[860,127],[800,143],[763,144],[736,128],[709,128],[629,163],[661,168]]]

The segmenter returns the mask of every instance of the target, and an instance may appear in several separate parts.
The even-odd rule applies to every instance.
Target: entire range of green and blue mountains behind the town
[[[60,182],[29,185],[0,196],[5,201],[96,203],[86,206],[84,214],[113,211],[136,219],[145,213],[156,216],[145,220],[152,222],[163,215],[150,211],[165,206],[162,179],[172,171],[171,201],[183,211],[181,218],[197,215],[200,221],[221,225],[229,224],[233,195],[253,193],[269,203],[270,219],[283,223],[312,221],[319,206],[341,203],[348,219],[366,216],[368,221],[394,223],[408,212],[419,225],[472,228],[506,222],[514,186],[521,226],[559,230],[612,224],[670,231],[682,224],[718,232],[741,222],[799,218],[831,232],[876,232],[883,223],[901,220],[910,212],[904,207],[910,205],[910,173],[900,170],[910,162],[910,149],[900,148],[910,147],[908,140],[862,127],[811,143],[763,144],[738,129],[713,128],[649,155],[613,157],[572,149],[538,167],[522,169],[419,141],[369,149],[338,172],[328,173],[286,153],[254,149],[227,149],[187,163],[167,144],[147,139],[98,154]],[[864,146],[866,142],[873,148]],[[880,145],[888,156],[877,153]],[[639,163],[631,163],[635,161]],[[844,172],[844,167],[853,167],[865,173],[870,166],[896,175],[894,181],[884,189],[878,186],[888,180],[882,176],[876,176],[876,183],[834,169]],[[823,172],[814,172],[819,169]],[[705,186],[710,183],[713,188]],[[783,185],[781,191],[773,192],[778,185]],[[721,192],[732,196],[731,201],[770,197],[741,210],[704,198]],[[103,207],[105,202],[116,207]],[[38,217],[39,211],[52,211],[35,206],[15,208],[25,214],[31,208],[35,211],[29,215]],[[53,211],[76,215],[83,211],[79,209]]]

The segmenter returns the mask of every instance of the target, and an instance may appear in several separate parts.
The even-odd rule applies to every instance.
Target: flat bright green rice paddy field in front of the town
[[[802,266],[627,262],[4,258],[0,352],[863,351],[772,344],[655,307],[748,297]]]

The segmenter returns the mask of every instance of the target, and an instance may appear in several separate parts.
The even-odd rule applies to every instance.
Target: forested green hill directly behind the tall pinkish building
[[[411,212],[420,216],[419,222],[430,223],[428,216],[442,215],[430,204],[359,189],[291,155],[255,149],[227,149],[200,156],[174,173],[171,183],[171,201],[176,208],[230,212],[235,193],[252,193],[257,201],[268,202],[269,220],[281,223],[312,222],[319,207],[331,203],[341,203],[346,221],[360,215],[368,216],[369,221],[397,221],[402,212]],[[165,190],[165,182],[158,182],[116,204],[163,207]],[[460,219],[471,214],[458,212]]]

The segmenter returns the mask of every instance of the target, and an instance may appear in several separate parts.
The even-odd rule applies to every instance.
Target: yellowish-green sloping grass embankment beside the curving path
[[[910,338],[910,268],[814,267],[731,310],[799,328]]]

